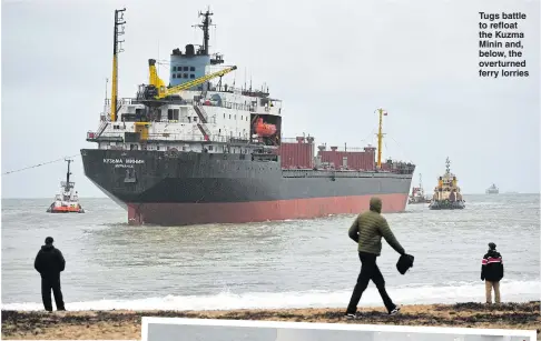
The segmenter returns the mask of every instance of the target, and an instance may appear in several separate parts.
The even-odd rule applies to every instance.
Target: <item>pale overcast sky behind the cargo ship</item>
[[[111,73],[114,10],[126,7],[119,94],[147,82],[147,60],[168,81],[173,49],[200,43],[197,13],[209,4],[210,49],[238,70],[227,78],[268,84],[284,101],[284,137],[376,144],[417,164],[427,190],[445,158],[464,193],[539,192],[539,1],[2,1],[2,173],[79,154],[96,130]],[[522,11],[529,78],[478,74],[479,11]],[[247,70],[247,72],[245,72]],[[108,92],[110,93],[110,83]],[[52,198],[66,162],[2,175],[2,198]],[[86,179],[81,197],[104,197]]]

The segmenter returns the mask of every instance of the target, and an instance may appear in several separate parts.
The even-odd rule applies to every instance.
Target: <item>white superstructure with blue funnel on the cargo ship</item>
[[[195,51],[186,46],[183,53],[173,50],[169,89],[197,81],[208,76],[224,62],[223,56],[208,53],[208,26],[212,13],[199,27],[204,30],[204,44]],[[157,76],[155,76],[157,78]],[[158,81],[161,82],[161,80]],[[153,69],[150,69],[153,82]],[[252,146],[274,146],[281,136],[282,101],[268,97],[268,89],[238,89],[205,81],[197,87],[179,91],[155,101],[145,97],[141,86],[136,98],[117,100],[117,113],[111,121],[111,103],[106,99],[100,126],[89,131],[87,140],[98,143],[98,149],[121,150],[178,150],[194,152],[246,153]],[[276,133],[256,133],[256,123],[273,124]],[[270,139],[272,138],[272,139]]]

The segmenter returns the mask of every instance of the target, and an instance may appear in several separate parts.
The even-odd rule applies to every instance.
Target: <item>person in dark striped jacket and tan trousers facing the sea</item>
[[[489,252],[483,257],[481,263],[481,280],[484,281],[486,303],[492,303],[492,289],[494,289],[495,302],[500,303],[500,281],[503,278],[503,261],[494,243],[489,243]]]

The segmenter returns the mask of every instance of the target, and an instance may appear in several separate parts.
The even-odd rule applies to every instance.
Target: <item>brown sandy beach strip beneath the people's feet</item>
[[[73,311],[20,312],[2,310],[3,340],[140,340],[141,317],[266,320],[292,322],[365,323],[430,327],[465,327],[538,330],[541,340],[540,302],[456,303],[403,305],[390,317],[382,308],[361,309],[363,318],[347,321],[343,309],[226,310],[226,311]]]

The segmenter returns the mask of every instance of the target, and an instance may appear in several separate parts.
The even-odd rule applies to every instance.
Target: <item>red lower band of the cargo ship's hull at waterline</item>
[[[404,210],[406,193],[378,194],[382,212]],[[130,224],[160,225],[204,223],[246,223],[286,219],[313,219],[328,214],[361,213],[368,209],[372,195],[292,199],[277,201],[223,203],[128,203]]]

